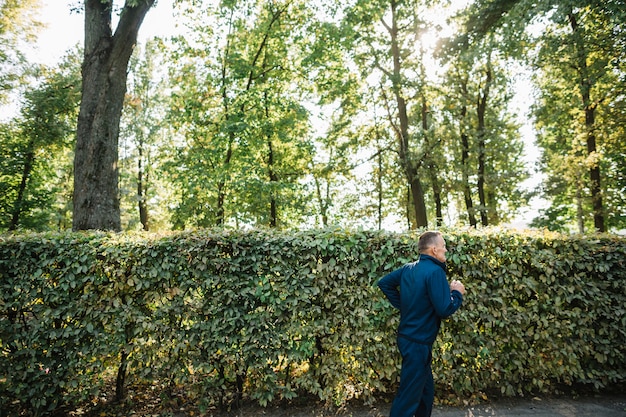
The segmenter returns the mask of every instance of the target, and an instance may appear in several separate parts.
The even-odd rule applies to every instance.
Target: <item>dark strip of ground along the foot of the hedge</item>
[[[500,398],[480,404],[461,401],[455,407],[436,405],[433,417],[626,417],[626,390],[623,388],[554,397]],[[389,408],[389,401],[384,399],[375,405],[353,402],[343,407],[299,399],[268,407],[243,403],[239,408],[201,410],[181,393],[164,399],[142,390],[129,392],[123,403],[102,401],[64,414],[77,417],[386,417]]]

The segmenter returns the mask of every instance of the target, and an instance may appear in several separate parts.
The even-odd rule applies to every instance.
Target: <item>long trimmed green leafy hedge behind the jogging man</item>
[[[626,375],[626,240],[446,233],[462,309],[442,327],[438,393],[600,389]],[[42,415],[129,379],[203,407],[392,393],[398,314],[374,285],[416,234],[255,230],[0,237],[0,407]]]

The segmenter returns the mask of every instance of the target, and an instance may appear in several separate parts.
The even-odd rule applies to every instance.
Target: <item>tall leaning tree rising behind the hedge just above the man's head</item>
[[[396,137],[398,164],[410,190],[412,227],[428,226],[422,179],[425,150],[410,118],[412,98],[419,95],[409,74],[418,71],[414,29],[423,20],[419,17],[422,8],[419,1],[358,1],[346,13],[362,75],[368,77],[375,70],[374,77],[380,80],[379,100]]]

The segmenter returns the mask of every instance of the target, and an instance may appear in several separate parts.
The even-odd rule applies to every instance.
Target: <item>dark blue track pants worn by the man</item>
[[[398,337],[402,355],[400,388],[389,417],[430,417],[435,400],[435,383],[430,366],[432,346]]]

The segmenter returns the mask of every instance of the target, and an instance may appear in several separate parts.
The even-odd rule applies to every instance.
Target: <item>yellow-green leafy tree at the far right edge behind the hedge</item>
[[[604,232],[607,226],[620,225],[616,202],[622,199],[618,190],[624,186],[615,175],[623,162],[614,159],[620,145],[611,139],[615,131],[607,116],[619,114],[614,110],[619,109],[622,94],[616,87],[624,86],[620,80],[624,51],[617,45],[620,39],[623,43],[619,22],[625,14],[623,9],[613,10],[611,3],[585,9],[578,4],[556,8],[542,36],[536,63],[540,70],[536,80],[542,87],[536,106],[539,144],[545,150],[542,163],[550,185],[547,195],[553,200],[550,211],[561,213],[553,220],[576,224],[579,233],[588,228]],[[554,56],[560,59],[551,59]],[[549,212],[545,214],[549,219]]]

